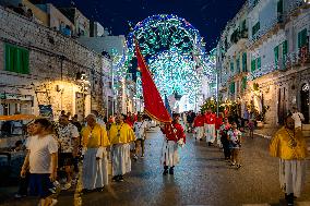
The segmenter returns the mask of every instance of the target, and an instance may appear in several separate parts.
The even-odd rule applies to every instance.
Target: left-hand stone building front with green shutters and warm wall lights
[[[103,110],[100,53],[3,7],[0,27],[0,114]]]

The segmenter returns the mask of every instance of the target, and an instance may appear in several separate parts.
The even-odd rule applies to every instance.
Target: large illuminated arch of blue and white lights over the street
[[[214,81],[215,65],[215,59],[204,50],[199,31],[176,15],[147,17],[128,35],[128,62],[134,57],[133,36],[162,96],[177,93],[187,96],[188,104],[196,104],[198,96],[202,94],[202,78]],[[139,75],[138,92],[141,92]]]

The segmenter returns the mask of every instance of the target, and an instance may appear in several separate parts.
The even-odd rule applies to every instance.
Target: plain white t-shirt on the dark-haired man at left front
[[[57,141],[52,135],[28,137],[27,149],[29,150],[29,172],[51,173],[51,154],[58,152]]]

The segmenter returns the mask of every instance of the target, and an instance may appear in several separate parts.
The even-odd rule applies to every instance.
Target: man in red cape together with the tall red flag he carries
[[[143,97],[144,97],[144,112],[154,120],[162,123],[162,132],[165,135],[162,149],[162,163],[164,166],[164,174],[174,174],[174,168],[179,161],[178,145],[182,146],[186,143],[186,134],[183,128],[179,123],[179,114],[174,114],[174,120],[159,95],[158,89],[152,78],[147,64],[140,51],[139,43],[134,38],[135,56],[138,59],[138,66],[141,72]],[[166,100],[167,101],[167,100]],[[168,102],[168,101],[167,101]],[[166,104],[168,105],[168,104]]]

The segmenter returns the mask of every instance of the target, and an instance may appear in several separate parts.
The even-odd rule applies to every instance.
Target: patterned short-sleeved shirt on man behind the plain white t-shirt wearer
[[[58,141],[60,143],[61,153],[72,153],[73,144],[72,138],[79,137],[78,128],[71,123],[65,126],[58,128]]]

